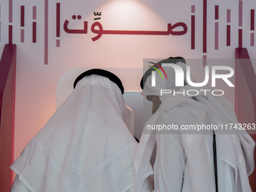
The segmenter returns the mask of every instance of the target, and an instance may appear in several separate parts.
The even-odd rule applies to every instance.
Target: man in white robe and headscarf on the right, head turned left
[[[162,63],[173,63],[183,69],[183,58],[169,58],[154,65],[159,71]],[[184,125],[215,125],[218,123],[238,123],[233,106],[226,99],[210,94],[198,96],[178,96],[197,87],[175,87],[175,72],[172,67],[163,67],[167,78],[159,73],[156,84],[152,86],[151,71],[142,79],[142,95],[153,102],[152,117],[145,125],[136,152],[135,165],[137,177],[146,175],[150,167],[155,142],[157,156],[154,163],[154,191],[157,192],[247,192],[251,191],[248,175],[254,170],[254,140],[244,130],[187,131]],[[163,76],[164,77],[164,76]],[[184,79],[185,83],[187,80]],[[172,90],[162,94],[161,90]],[[176,125],[178,130],[147,130],[148,125]],[[215,135],[216,134],[216,135]],[[143,154],[143,155],[142,155]],[[136,180],[136,192],[142,182]]]

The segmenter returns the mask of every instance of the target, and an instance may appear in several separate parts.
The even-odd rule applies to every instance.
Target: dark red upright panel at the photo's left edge
[[[5,44],[0,61],[0,191],[10,191],[14,161],[16,44]]]

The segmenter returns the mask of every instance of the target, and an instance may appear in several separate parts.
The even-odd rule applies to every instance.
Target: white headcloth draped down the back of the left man
[[[133,114],[117,84],[87,76],[11,169],[29,191],[125,192],[135,182],[138,145],[126,123],[133,126]]]

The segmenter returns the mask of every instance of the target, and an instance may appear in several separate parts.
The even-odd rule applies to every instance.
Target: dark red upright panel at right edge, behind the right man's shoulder
[[[246,48],[236,48],[235,105],[239,123],[256,123],[256,75]],[[255,141],[255,130],[248,130]],[[255,151],[254,151],[255,160]],[[251,190],[256,191],[256,173],[249,176]]]

